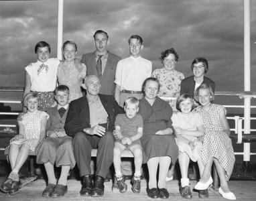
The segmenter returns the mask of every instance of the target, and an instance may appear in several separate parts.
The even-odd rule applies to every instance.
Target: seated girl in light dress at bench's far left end
[[[44,139],[49,118],[46,112],[38,111],[37,92],[28,92],[23,99],[23,105],[27,107],[27,113],[18,119],[19,135],[11,139],[8,147],[11,173],[0,187],[3,192],[9,194],[16,194],[19,191],[19,170],[25,163],[29,151],[35,151],[36,145]]]

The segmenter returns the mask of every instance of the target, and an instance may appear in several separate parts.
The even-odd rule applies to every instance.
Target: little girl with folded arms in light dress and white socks
[[[204,167],[201,160],[202,142],[198,139],[204,135],[202,117],[192,112],[194,100],[189,94],[182,94],[177,100],[178,113],[172,115],[172,126],[176,133],[176,143],[179,148],[180,172],[182,175],[180,194],[182,198],[192,198],[188,179],[188,165],[190,159],[198,162],[200,173]]]

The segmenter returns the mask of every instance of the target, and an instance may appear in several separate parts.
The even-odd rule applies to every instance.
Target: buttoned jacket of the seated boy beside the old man
[[[46,125],[46,132],[64,132],[64,125],[66,121],[66,116],[68,114],[68,109],[65,111],[63,117],[60,117],[58,105],[56,107],[48,108],[46,112],[48,113],[48,115],[50,115],[50,118],[48,119]]]

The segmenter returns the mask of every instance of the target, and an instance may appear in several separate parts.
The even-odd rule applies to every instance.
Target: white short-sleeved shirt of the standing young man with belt
[[[151,77],[152,62],[139,56],[130,56],[117,63],[115,83],[121,90],[141,91],[141,86],[146,78]]]

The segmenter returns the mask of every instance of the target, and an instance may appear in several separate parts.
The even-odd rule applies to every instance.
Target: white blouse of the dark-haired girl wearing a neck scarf
[[[57,69],[59,63],[60,60],[57,58],[49,58],[44,62],[44,64],[49,68],[48,72],[46,72],[46,68],[44,68],[40,74],[38,74],[38,68],[43,63],[39,60],[26,66],[25,71],[29,74],[31,80],[31,90],[37,92],[54,91],[56,88]]]

